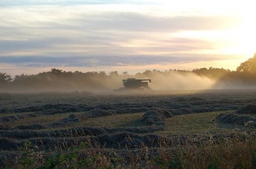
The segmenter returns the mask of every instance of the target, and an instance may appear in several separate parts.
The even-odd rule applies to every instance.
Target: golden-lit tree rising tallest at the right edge
[[[236,68],[238,72],[244,72],[249,74],[256,74],[256,53],[254,57],[242,62],[239,67]]]

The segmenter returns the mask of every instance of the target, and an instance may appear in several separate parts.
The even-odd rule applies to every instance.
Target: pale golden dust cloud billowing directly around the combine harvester
[[[199,76],[194,73],[178,73],[169,72],[168,74],[157,73],[149,74],[136,74],[133,77],[117,76],[111,77],[102,83],[105,83],[105,89],[108,91],[114,89],[120,89],[123,87],[123,79],[136,78],[136,79],[151,79],[151,83],[148,83],[149,87],[153,91],[168,91],[168,90],[205,90],[212,89],[216,80],[212,80],[209,77]],[[104,92],[104,91],[101,91]],[[107,91],[105,91],[107,92]]]

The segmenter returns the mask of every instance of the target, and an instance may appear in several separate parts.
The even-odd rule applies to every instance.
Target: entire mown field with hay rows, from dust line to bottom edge
[[[0,94],[3,168],[255,168],[256,91]]]

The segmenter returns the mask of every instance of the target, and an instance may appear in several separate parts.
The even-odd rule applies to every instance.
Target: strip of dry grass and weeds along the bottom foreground
[[[56,147],[50,152],[37,149],[30,142],[20,147],[15,160],[5,161],[11,168],[255,168],[256,140],[251,134],[210,138],[192,138],[175,143],[162,140],[157,147],[138,145],[136,149],[112,150],[90,141]],[[63,143],[65,144],[65,143]]]

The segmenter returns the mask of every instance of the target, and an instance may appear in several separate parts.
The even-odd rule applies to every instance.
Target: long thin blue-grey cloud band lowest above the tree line
[[[172,54],[171,56],[2,56],[2,64],[23,67],[114,67],[129,65],[168,65],[182,62],[221,60],[222,56]]]

